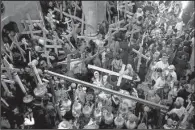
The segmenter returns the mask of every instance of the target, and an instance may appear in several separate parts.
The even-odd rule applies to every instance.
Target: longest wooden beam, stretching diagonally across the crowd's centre
[[[61,74],[58,74],[58,73],[55,73],[55,72],[52,72],[52,71],[45,70],[45,73],[50,74],[52,76],[60,77],[62,79],[68,80],[70,82],[82,84],[84,86],[87,86],[87,87],[90,87],[90,88],[93,88],[93,89],[104,91],[104,92],[109,93],[109,94],[117,95],[117,96],[120,96],[122,98],[134,100],[136,102],[139,102],[139,103],[142,103],[142,104],[145,104],[145,105],[149,105],[149,106],[154,107],[154,108],[158,108],[158,109],[168,111],[167,106],[156,104],[154,102],[150,102],[150,101],[147,101],[147,100],[144,100],[144,99],[141,99],[141,98],[137,98],[137,97],[134,97],[134,96],[121,94],[120,92],[117,92],[117,91],[114,91],[114,90],[111,90],[111,89],[108,89],[108,88],[104,88],[104,87],[98,87],[97,85],[94,85],[94,84],[91,84],[91,83],[88,83],[88,82],[85,82],[85,81],[82,81],[82,80],[78,80],[78,79],[75,79],[75,78],[71,78],[71,77],[68,77],[68,76],[64,76],[64,75],[61,75]]]

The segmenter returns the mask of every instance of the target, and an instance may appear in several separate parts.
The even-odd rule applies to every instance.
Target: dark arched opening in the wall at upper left
[[[6,24],[2,29],[2,40],[4,43],[12,43],[12,40],[9,37],[9,34],[11,37],[15,36],[16,33],[19,32],[18,26],[16,22],[10,21],[8,24]]]

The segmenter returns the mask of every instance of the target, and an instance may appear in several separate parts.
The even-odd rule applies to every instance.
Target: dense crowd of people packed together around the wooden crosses
[[[45,57],[44,39],[7,30],[10,39],[4,39],[7,43],[1,58],[19,69],[26,93],[17,83],[7,84],[8,90],[1,87],[2,129],[195,128],[194,27],[179,17],[181,2],[129,2],[125,8],[125,2],[109,1],[107,19],[98,24],[98,34],[91,38],[78,38],[82,23],[56,11],[63,2],[40,3],[46,38],[56,40],[62,48],[57,54],[50,49]],[[62,11],[82,19],[81,1],[65,4]],[[111,35],[118,28],[124,29]],[[40,29],[33,24],[33,30]],[[25,53],[17,46],[9,48],[16,35],[19,42],[26,43],[20,45]],[[6,53],[12,53],[13,60],[5,58]],[[140,60],[140,53],[145,58]],[[86,60],[59,64],[68,57]],[[29,63],[35,64],[37,71]],[[117,76],[89,69],[88,64],[132,80],[122,79],[118,85]],[[123,65],[126,67],[121,71]],[[51,76],[45,70],[163,105],[167,110]],[[2,70],[1,74],[6,73]]]

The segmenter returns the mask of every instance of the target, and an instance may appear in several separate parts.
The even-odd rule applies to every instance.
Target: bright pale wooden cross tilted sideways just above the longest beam
[[[128,79],[128,80],[132,80],[133,79],[131,76],[122,74],[124,72],[124,70],[125,70],[125,65],[122,66],[121,73],[117,73],[117,72],[114,72],[114,71],[111,71],[111,70],[107,70],[107,69],[104,69],[104,68],[100,68],[100,67],[97,67],[97,66],[94,66],[94,65],[90,65],[90,64],[88,64],[88,68],[89,69],[93,69],[93,70],[98,70],[100,72],[104,72],[104,73],[107,73],[109,75],[118,76],[119,78],[118,78],[118,81],[117,81],[117,86],[120,86],[122,78],[125,78],[125,79]]]

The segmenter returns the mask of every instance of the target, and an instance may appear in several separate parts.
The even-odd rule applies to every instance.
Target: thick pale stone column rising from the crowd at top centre
[[[97,25],[106,19],[106,1],[82,1],[85,21],[92,25],[93,29],[85,26],[85,35],[97,34]]]

